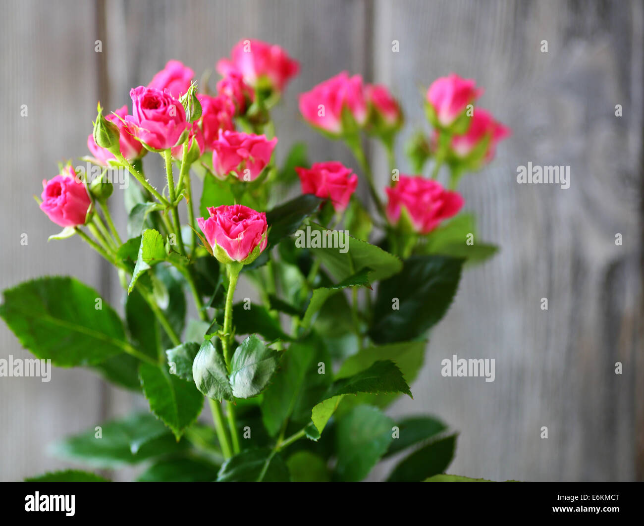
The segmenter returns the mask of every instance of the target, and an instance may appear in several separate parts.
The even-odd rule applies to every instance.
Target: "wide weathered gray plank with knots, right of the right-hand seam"
[[[450,473],[635,476],[642,39],[640,2],[375,5],[375,80],[399,93],[410,121],[422,122],[419,86],[455,71],[477,79],[486,88],[480,105],[514,130],[493,164],[461,187],[480,240],[501,252],[466,272],[433,333],[415,400],[395,408],[431,411],[461,432]],[[401,145],[398,153],[404,172]],[[516,167],[528,161],[571,165],[571,187],[518,185]],[[443,378],[440,361],[453,354],[496,359],[495,382]]]

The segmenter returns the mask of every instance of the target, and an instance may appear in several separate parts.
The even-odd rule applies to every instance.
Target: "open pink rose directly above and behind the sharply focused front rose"
[[[277,138],[268,140],[265,135],[220,130],[213,143],[214,174],[225,179],[234,173],[239,180],[254,181],[269,164],[277,142]]]

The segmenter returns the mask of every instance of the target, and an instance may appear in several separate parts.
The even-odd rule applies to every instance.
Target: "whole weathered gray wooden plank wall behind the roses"
[[[495,162],[462,183],[480,237],[502,247],[469,270],[435,329],[414,400],[460,431],[451,473],[495,480],[644,478],[641,333],[644,7],[641,1],[10,0],[0,19],[0,285],[73,274],[120,308],[116,276],[80,240],[52,241],[32,194],[56,162],[86,153],[98,99],[129,103],[170,58],[200,75],[238,40],[276,42],[301,61],[278,111],[279,151],[352,163],[299,118],[297,94],[348,70],[383,82],[422,127],[419,89],[455,71],[513,127]],[[102,53],[94,51],[102,41]],[[392,41],[399,52],[392,52]],[[541,41],[548,52],[540,52]],[[21,117],[21,105],[28,117]],[[623,117],[615,117],[615,105]],[[379,180],[384,156],[370,145]],[[571,165],[571,187],[516,184],[532,161]],[[363,189],[364,190],[364,189]],[[116,201],[116,200],[115,200]],[[28,244],[21,245],[21,234]],[[623,246],[614,235],[623,235]],[[549,310],[540,310],[547,297]],[[0,357],[26,357],[0,324]],[[440,361],[496,360],[495,382],[446,379]],[[623,375],[614,363],[623,363]],[[145,406],[88,371],[0,379],[0,480],[64,467],[44,446]],[[547,426],[549,438],[540,438]],[[128,476],[124,473],[122,476]],[[375,473],[377,477],[379,473]]]

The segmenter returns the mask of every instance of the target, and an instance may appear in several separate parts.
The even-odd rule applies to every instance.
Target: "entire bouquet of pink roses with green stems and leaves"
[[[39,205],[62,227],[52,238],[79,236],[116,268],[124,319],[96,290],[62,276],[5,290],[0,315],[37,358],[90,367],[142,393],[152,413],[92,425],[55,451],[96,467],[144,463],[138,480],[355,481],[403,451],[388,480],[444,473],[455,433],[435,417],[394,419],[385,409],[412,396],[428,332],[464,263],[496,250],[460,213],[457,185],[509,130],[475,107],[482,91],[473,80],[437,79],[424,102],[433,131],[407,149],[417,174],[401,174],[399,102],[343,72],[299,95],[299,109],[356,164],[310,164],[298,143],[278,165],[271,113],[298,62],[246,40],[217,70],[213,93],[170,61],[131,89],[131,113],[104,116],[99,104],[86,158],[93,168],[70,163],[43,182]],[[365,136],[388,154],[384,189]],[[163,188],[146,178],[153,153],[164,160]],[[127,232],[109,212],[119,171],[128,177]],[[368,203],[355,193],[361,179]],[[256,301],[236,296],[240,278]],[[204,399],[213,424],[198,420]],[[45,480],[100,477],[64,471]]]

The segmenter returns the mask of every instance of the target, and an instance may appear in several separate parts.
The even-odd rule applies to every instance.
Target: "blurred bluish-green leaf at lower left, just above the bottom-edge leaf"
[[[163,422],[142,413],[65,438],[54,444],[52,453],[98,467],[116,467],[182,451],[186,444],[185,441],[177,444]]]

